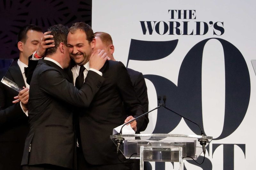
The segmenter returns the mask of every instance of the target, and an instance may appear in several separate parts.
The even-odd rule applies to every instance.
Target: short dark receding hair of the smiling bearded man
[[[68,31],[70,33],[74,33],[78,29],[84,31],[84,33],[86,34],[87,41],[89,41],[89,43],[92,42],[92,40],[94,39],[94,34],[91,26],[84,22],[76,22],[68,29]]]

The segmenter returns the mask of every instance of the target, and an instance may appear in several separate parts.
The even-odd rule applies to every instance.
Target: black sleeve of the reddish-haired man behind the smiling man
[[[137,93],[144,112],[148,112],[148,89],[142,73],[140,73],[139,76],[136,78],[133,87],[135,92]],[[144,122],[141,125],[140,129],[138,129],[138,132],[144,131],[148,126],[148,122],[148,115],[145,115]]]

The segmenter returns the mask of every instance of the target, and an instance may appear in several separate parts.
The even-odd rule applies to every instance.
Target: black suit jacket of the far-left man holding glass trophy
[[[26,86],[17,62],[13,63],[6,77]],[[0,83],[0,169],[22,169],[20,166],[24,143],[28,134],[28,117],[20,103],[13,104],[18,92]]]

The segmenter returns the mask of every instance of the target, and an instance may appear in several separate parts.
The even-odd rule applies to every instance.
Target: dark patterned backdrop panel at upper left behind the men
[[[92,24],[92,0],[0,0],[0,58],[19,57],[16,37],[28,24],[71,26],[83,21]]]

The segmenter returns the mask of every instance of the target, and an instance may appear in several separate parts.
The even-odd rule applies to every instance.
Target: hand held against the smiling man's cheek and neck
[[[90,68],[95,70],[100,70],[105,64],[106,60],[110,58],[107,56],[104,50],[98,49],[97,51],[93,51],[92,55],[89,58]]]

